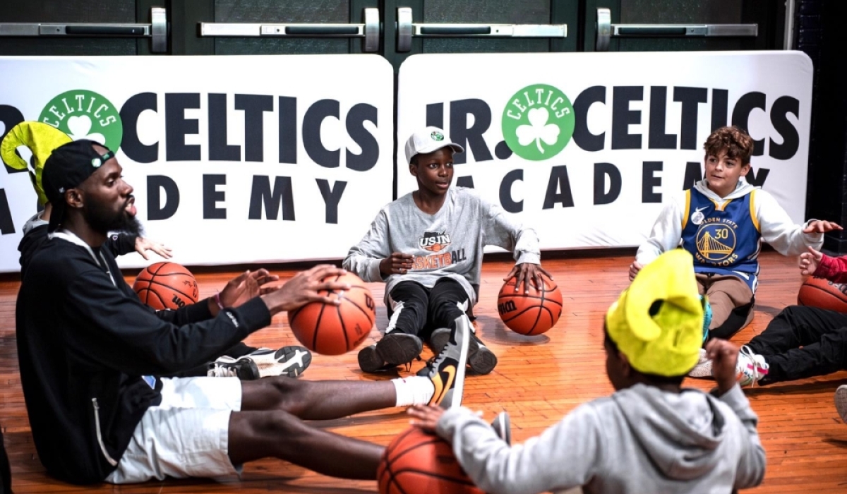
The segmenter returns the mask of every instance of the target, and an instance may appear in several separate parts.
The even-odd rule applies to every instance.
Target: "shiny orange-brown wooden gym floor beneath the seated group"
[[[496,412],[512,415],[513,440],[521,442],[554,424],[579,403],[612,392],[606,379],[602,347],[602,318],[619,292],[628,286],[627,269],[631,250],[543,253],[543,266],[555,277],[564,298],[558,324],[541,336],[520,336],[502,324],[496,311],[496,297],[512,262],[490,256],[483,267],[480,302],[475,308],[479,334],[498,355],[500,364],[490,375],[467,380],[464,403],[491,419]],[[733,338],[744,343],[761,330],[782,308],[796,302],[802,282],[795,267],[796,258],[783,258],[772,251],[761,255],[761,286],[756,299],[756,317]],[[274,273],[290,277],[305,265],[274,266]],[[196,268],[201,297],[213,295],[243,266]],[[125,273],[130,284],[136,272]],[[369,284],[374,298],[381,301],[384,285]],[[375,481],[338,480],[314,474],[276,459],[248,463],[241,479],[166,480],[135,486],[69,486],[47,477],[36,457],[20,389],[14,334],[14,303],[19,288],[18,275],[0,275],[0,425],[12,467],[13,490],[30,492],[376,492]],[[379,338],[377,328],[385,328],[385,307],[378,305],[378,319],[364,344]],[[252,335],[255,346],[281,347],[296,344],[285,315]],[[424,347],[422,358],[429,358]],[[415,362],[412,372],[424,362]],[[401,371],[400,375],[409,373]],[[339,357],[315,355],[302,376],[307,380],[374,380],[394,375],[363,375],[356,352]],[[835,389],[847,383],[847,372],[816,379],[794,381],[746,390],[761,420],[759,432],[767,450],[767,475],[756,492],[844,492],[847,491],[847,425],[839,419],[833,404]],[[686,380],[687,386],[704,390],[709,380]],[[345,436],[387,444],[408,426],[400,408],[360,414],[347,419],[314,423]],[[332,461],[328,458],[328,461]],[[562,468],[567,468],[562,465]]]

